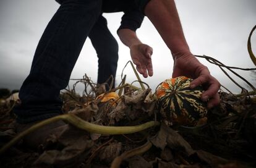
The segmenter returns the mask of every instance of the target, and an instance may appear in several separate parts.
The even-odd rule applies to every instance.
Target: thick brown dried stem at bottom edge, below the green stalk
[[[111,163],[111,168],[119,168],[124,159],[127,159],[129,157],[132,157],[138,154],[143,154],[146,151],[148,151],[151,148],[151,146],[152,146],[152,143],[150,141],[147,141],[147,143],[140,146],[139,148],[135,148],[130,151],[126,151],[122,153],[120,156],[117,156],[114,159],[114,161]]]

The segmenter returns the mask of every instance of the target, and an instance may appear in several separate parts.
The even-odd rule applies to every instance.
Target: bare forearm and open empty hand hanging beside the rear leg
[[[127,47],[130,48],[130,56],[132,62],[136,65],[136,69],[143,77],[147,78],[148,75],[153,75],[153,67],[151,62],[151,55],[153,49],[147,44],[143,44],[137,37],[135,31],[129,28],[122,28],[117,31],[117,34]]]

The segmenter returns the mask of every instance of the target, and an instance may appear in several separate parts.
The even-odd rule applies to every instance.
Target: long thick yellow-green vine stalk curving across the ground
[[[86,130],[87,132],[100,133],[103,135],[121,135],[121,134],[135,133],[156,125],[160,125],[159,122],[150,121],[150,122],[146,122],[144,124],[135,125],[135,126],[124,126],[124,127],[103,126],[103,125],[92,124],[90,122],[82,120],[74,114],[63,114],[63,115],[58,115],[56,117],[52,117],[50,119],[43,120],[38,124],[35,124],[32,127],[28,128],[27,130],[19,133],[19,135],[15,136],[15,138],[13,138],[11,141],[9,141],[9,143],[4,145],[0,149],[0,155],[3,154],[7,149],[15,145],[15,143],[17,143],[24,136],[28,135],[31,132],[34,132],[35,130],[38,130],[38,128],[41,128],[44,125],[56,122],[58,120],[64,120],[65,122],[72,124],[75,127],[80,128],[82,130]]]

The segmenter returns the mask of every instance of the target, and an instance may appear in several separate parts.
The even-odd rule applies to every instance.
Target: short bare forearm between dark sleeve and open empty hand
[[[124,43],[129,48],[134,44],[142,44],[135,31],[132,31],[128,28],[120,29],[117,32],[117,35],[119,36],[122,43]]]

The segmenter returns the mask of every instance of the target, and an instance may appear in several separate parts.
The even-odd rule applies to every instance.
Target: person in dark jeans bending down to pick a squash
[[[208,107],[220,102],[220,83],[190,52],[174,0],[59,0],[61,6],[49,21],[33,57],[28,77],[20,88],[21,105],[14,109],[19,124],[29,124],[62,114],[60,90],[66,88],[70,74],[87,36],[99,58],[98,83],[115,76],[118,46],[108,30],[103,12],[124,12],[117,34],[130,48],[137,71],[153,75],[153,49],[136,35],[144,15],[153,23],[174,59],[173,77],[194,78],[190,87],[207,86],[202,100]]]

